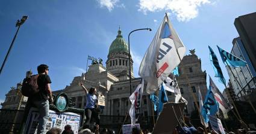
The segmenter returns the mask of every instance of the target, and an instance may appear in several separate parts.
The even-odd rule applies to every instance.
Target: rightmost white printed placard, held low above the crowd
[[[211,128],[216,132],[221,132],[222,134],[225,134],[225,130],[223,129],[220,119],[217,118],[215,115],[208,115],[208,117],[211,123]]]

